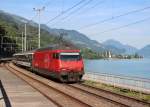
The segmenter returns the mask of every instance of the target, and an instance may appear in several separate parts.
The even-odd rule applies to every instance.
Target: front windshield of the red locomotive
[[[60,59],[63,61],[80,60],[81,55],[80,55],[80,53],[60,53]]]

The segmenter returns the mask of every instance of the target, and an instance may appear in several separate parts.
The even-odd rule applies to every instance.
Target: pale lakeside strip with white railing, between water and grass
[[[150,94],[150,79],[146,78],[85,73],[83,79]]]

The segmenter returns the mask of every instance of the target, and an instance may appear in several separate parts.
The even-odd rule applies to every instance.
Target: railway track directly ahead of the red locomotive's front
[[[71,84],[73,88],[76,88],[81,91],[85,91],[89,94],[95,95],[97,97],[105,97],[108,99],[113,99],[114,101],[120,102],[122,104],[126,104],[130,107],[150,107],[150,103],[146,101],[142,101],[139,99],[135,99],[132,97],[120,95],[117,93],[113,93],[111,91],[95,88],[92,86],[88,86],[85,84]]]

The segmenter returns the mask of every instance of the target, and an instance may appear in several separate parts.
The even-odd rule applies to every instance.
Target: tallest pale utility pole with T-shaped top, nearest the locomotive
[[[34,11],[36,11],[38,13],[39,16],[39,33],[38,33],[38,48],[41,47],[41,23],[40,23],[40,16],[41,16],[41,12],[45,9],[45,7],[42,8],[33,8]]]

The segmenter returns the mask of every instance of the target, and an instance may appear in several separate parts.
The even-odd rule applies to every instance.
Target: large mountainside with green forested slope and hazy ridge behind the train
[[[22,51],[21,32],[25,30],[25,23],[27,23],[27,50],[37,49],[38,24],[23,17],[0,10],[0,47],[3,47],[0,51],[0,58],[10,57],[12,54]],[[61,33],[65,33],[66,35],[62,38],[62,36],[60,36]],[[1,41],[2,39],[3,42]],[[9,44],[4,45],[5,43]],[[41,25],[41,47],[47,47],[52,44],[59,44],[60,46],[67,46],[70,48],[80,48],[84,58],[92,59],[101,58],[100,54],[97,54],[96,51],[100,52],[105,50],[100,43],[90,40],[84,34],[75,30],[54,29],[46,25]]]

